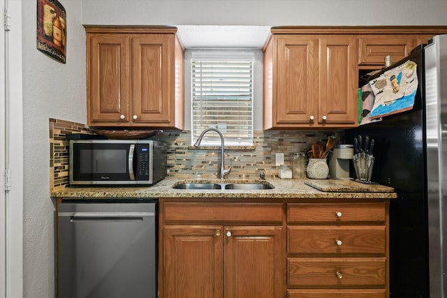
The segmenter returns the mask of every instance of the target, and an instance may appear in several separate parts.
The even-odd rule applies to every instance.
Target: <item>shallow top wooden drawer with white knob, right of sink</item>
[[[349,223],[386,220],[386,203],[293,203],[287,206],[288,223]]]

